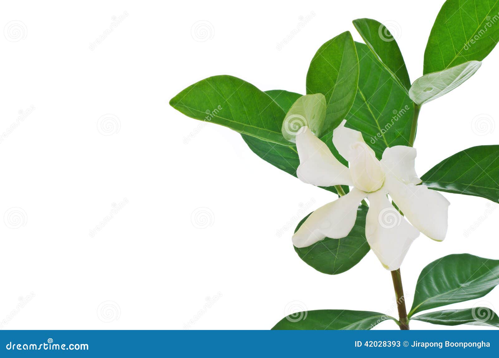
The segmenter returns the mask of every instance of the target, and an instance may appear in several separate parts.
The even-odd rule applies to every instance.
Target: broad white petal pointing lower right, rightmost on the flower
[[[385,185],[407,219],[430,239],[442,241],[447,234],[449,201],[426,185],[404,184],[387,175]]]

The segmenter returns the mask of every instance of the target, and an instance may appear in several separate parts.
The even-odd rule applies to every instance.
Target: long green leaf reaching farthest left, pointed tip
[[[213,76],[187,87],[170,105],[186,116],[211,121],[259,139],[290,145],[282,136],[285,112],[267,94],[232,76]]]

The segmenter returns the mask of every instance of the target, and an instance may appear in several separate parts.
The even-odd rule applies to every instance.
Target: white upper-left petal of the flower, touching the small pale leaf
[[[300,165],[296,176],[307,184],[317,186],[353,185],[348,167],[341,164],[327,145],[307,128],[296,135],[296,149]]]

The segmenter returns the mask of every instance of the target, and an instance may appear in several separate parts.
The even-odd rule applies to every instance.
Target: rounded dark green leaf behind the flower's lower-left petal
[[[308,247],[294,247],[294,250],[306,264],[319,272],[336,275],[349,270],[371,249],[366,240],[367,209],[366,206],[359,206],[355,225],[348,236],[341,239],[325,238]],[[298,223],[295,233],[310,214]]]

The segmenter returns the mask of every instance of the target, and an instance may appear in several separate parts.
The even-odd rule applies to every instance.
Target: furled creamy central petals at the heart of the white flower
[[[385,181],[385,171],[374,150],[364,142],[355,142],[352,149],[355,152],[355,158],[350,160],[353,185],[368,193],[381,188]]]

